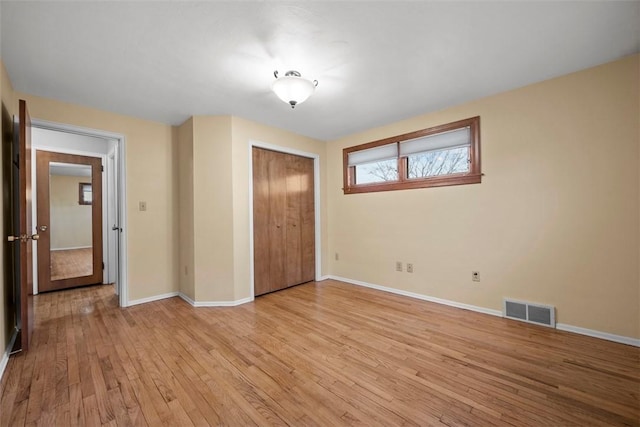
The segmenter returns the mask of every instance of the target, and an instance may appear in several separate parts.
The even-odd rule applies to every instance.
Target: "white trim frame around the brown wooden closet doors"
[[[250,252],[250,285],[251,285],[251,301],[255,298],[255,283],[254,283],[254,242],[253,242],[253,148],[263,148],[266,150],[277,151],[285,154],[293,154],[294,156],[306,157],[313,159],[313,202],[314,202],[314,228],[315,228],[315,264],[316,274],[315,280],[321,280],[320,271],[322,270],[322,257],[321,257],[321,236],[322,230],[320,228],[320,155],[316,153],[309,153],[306,151],[296,150],[290,147],[284,147],[275,144],[269,144],[260,141],[249,141],[249,252]]]

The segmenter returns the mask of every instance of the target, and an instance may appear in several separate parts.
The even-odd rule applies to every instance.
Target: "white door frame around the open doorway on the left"
[[[116,141],[118,150],[118,216],[120,218],[120,252],[118,254],[118,283],[120,292],[118,300],[120,307],[129,305],[129,286],[128,286],[128,265],[127,265],[127,177],[126,177],[126,138],[123,134],[108,132],[99,129],[86,128],[81,126],[68,125],[47,120],[32,119],[31,126],[53,130],[58,132],[73,133],[78,135],[93,136],[103,139],[112,139]],[[72,153],[75,154],[75,153]],[[104,177],[103,177],[104,181]]]

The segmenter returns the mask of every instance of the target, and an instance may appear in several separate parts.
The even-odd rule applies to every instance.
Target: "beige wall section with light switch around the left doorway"
[[[31,117],[126,138],[129,300],[178,290],[177,131],[170,125],[52,99],[26,99]],[[138,210],[140,201],[147,210]]]

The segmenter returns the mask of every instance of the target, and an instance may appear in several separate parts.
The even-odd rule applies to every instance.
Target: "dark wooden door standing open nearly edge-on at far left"
[[[14,350],[29,349],[29,341],[33,330],[33,234],[31,221],[31,118],[27,103],[20,100],[18,113],[17,138],[14,138],[11,160],[11,197],[7,202],[12,205],[13,234],[7,237],[9,244],[14,245],[13,268],[14,286],[19,287],[17,317],[19,336]],[[9,267],[9,266],[8,266]]]

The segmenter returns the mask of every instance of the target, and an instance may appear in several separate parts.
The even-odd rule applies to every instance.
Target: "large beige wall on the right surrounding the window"
[[[640,338],[638,71],[636,55],[328,143],[329,270]],[[481,184],[342,194],[343,148],[476,115]]]

